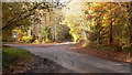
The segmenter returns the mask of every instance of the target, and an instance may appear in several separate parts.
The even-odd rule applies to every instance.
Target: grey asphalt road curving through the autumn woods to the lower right
[[[7,44],[12,46],[12,44]],[[70,52],[78,50],[74,43],[54,43],[41,45],[14,45],[23,47],[44,58],[50,58],[65,68],[76,73],[130,73],[130,64],[98,58],[90,55]],[[68,51],[67,51],[68,50]]]

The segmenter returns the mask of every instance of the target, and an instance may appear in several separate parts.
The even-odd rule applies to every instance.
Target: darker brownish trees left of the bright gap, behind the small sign
[[[50,2],[4,2],[2,10],[3,38],[12,40],[12,30],[21,31],[16,42],[42,43],[47,39],[51,41],[65,40],[69,34],[66,25],[59,24],[62,19],[61,9],[50,8]],[[38,40],[37,42],[34,40]]]

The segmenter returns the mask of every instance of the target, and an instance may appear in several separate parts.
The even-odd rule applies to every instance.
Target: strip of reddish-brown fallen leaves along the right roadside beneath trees
[[[94,56],[98,56],[101,58],[112,60],[112,61],[121,61],[121,62],[129,62],[132,63],[132,53],[128,52],[116,52],[116,51],[101,51],[96,49],[87,49],[82,47],[79,44],[76,44],[78,49],[72,49],[70,51],[82,53],[82,54],[90,54]]]

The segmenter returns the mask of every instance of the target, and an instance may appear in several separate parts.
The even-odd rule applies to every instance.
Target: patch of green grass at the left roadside
[[[19,47],[2,49],[2,67],[9,68],[11,65],[24,60],[30,53]]]

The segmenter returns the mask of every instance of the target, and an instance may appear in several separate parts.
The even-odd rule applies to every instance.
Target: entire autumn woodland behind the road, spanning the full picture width
[[[132,2],[2,2],[3,42],[132,46]]]

